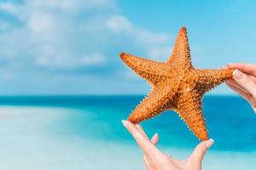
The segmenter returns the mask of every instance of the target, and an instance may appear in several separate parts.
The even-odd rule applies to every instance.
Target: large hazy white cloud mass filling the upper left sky
[[[119,42],[129,40],[129,43],[137,44],[137,48],[144,54],[152,54],[155,45],[160,48],[166,45],[168,35],[134,26],[123,15],[108,10],[84,14],[89,7],[111,9],[115,6],[113,4],[111,0],[27,0],[24,4],[0,3],[0,8],[15,14],[22,22],[15,31],[0,37],[0,41],[2,39],[6,42],[1,51],[13,49],[12,54],[5,55],[19,58],[19,62],[34,62],[34,65],[49,65],[49,68],[55,69],[73,69],[76,66],[108,62],[105,56],[110,57],[115,44]],[[124,33],[126,37],[122,37]],[[17,39],[22,39],[22,42],[17,42]],[[31,62],[27,59],[31,59]]]

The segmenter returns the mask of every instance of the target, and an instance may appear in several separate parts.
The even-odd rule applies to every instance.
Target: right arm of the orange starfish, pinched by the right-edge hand
[[[230,79],[233,71],[233,69],[197,69],[195,70],[198,79],[196,83],[196,86],[198,86],[197,89],[201,89],[200,93],[204,94],[212,88],[217,87],[222,82]]]

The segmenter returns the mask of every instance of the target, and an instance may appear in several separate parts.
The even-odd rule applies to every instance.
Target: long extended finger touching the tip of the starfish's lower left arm
[[[151,141],[149,141],[149,139],[147,139],[134,124],[124,120],[122,122],[145,154],[149,157],[158,156],[160,151],[155,148],[154,144],[152,144]]]

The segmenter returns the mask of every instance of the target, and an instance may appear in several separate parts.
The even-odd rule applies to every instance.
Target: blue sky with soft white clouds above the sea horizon
[[[0,94],[145,94],[119,52],[164,61],[181,26],[192,62],[255,63],[256,2],[0,1]],[[233,94],[225,86],[211,94]]]

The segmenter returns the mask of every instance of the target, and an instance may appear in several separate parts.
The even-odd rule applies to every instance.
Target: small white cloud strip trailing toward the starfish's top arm
[[[123,15],[114,15],[107,21],[110,31],[122,37],[124,34],[132,38],[132,43],[140,46],[144,54],[150,59],[167,59],[171,54],[171,48],[168,44],[169,35],[166,33],[154,33],[137,26],[134,26],[130,20]]]

